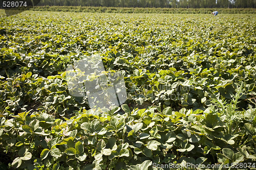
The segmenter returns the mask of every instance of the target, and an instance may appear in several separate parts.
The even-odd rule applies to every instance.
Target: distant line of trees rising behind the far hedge
[[[41,0],[39,6],[256,8],[256,0]]]

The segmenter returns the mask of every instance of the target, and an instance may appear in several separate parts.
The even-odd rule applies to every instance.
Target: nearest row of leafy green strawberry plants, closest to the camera
[[[252,163],[255,169],[256,109],[236,110],[241,93],[242,86],[230,104],[216,100],[205,111],[131,111],[124,104],[65,120],[45,110],[2,116],[1,152],[13,160],[9,168],[20,169],[157,169],[153,163],[218,163],[219,169]]]

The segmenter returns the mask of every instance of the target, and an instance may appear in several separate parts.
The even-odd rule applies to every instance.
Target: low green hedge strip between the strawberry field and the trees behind
[[[210,14],[219,11],[223,14],[255,13],[252,8],[121,8],[121,7],[77,7],[77,6],[36,6],[34,11],[63,11],[63,12],[99,12],[99,13],[170,13],[170,14]]]

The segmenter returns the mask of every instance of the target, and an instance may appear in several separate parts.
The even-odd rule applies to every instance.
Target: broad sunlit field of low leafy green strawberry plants
[[[256,169],[255,21],[1,13],[0,169]],[[120,107],[69,92],[67,67],[96,55],[123,70]]]

